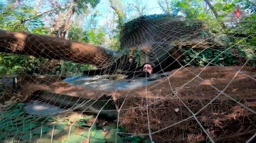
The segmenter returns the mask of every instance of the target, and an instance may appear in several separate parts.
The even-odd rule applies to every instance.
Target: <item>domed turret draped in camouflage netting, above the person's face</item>
[[[173,47],[184,42],[213,43],[210,37],[206,25],[200,20],[151,15],[126,23],[120,33],[120,42],[122,50],[131,47],[141,50],[143,64],[157,62]]]

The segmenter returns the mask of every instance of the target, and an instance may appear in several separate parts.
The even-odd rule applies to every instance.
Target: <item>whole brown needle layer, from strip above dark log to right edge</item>
[[[255,67],[187,67],[132,91],[97,91],[69,86],[58,78],[33,78],[21,80],[20,94],[29,98],[40,89],[82,98],[112,95],[121,109],[119,125],[132,134],[150,130],[159,142],[200,142],[209,137],[240,142],[256,132],[255,79]]]

